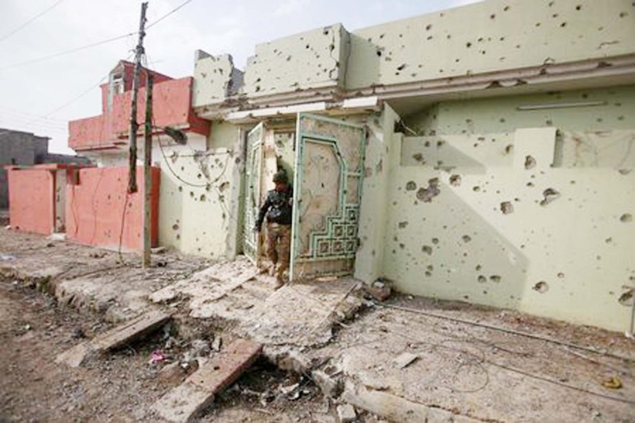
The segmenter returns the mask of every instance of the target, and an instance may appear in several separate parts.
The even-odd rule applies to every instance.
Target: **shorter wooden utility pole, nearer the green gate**
[[[151,267],[150,228],[152,226],[152,87],[154,77],[147,72],[146,78],[146,120],[143,143],[143,268]]]

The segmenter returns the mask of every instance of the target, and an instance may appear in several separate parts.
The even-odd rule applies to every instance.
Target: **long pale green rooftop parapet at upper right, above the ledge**
[[[634,39],[631,0],[489,0],[352,32],[347,88],[633,54]]]

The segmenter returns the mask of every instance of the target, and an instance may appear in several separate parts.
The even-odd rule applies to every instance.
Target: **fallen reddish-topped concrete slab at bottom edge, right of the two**
[[[232,384],[258,358],[262,346],[239,339],[225,351],[192,373],[152,406],[170,422],[189,422],[214,400],[214,395]]]

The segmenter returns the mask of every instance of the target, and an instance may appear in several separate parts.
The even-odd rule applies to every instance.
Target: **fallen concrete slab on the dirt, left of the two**
[[[151,311],[133,318],[131,321],[109,330],[105,334],[59,354],[55,362],[70,367],[79,367],[88,360],[103,354],[105,351],[117,349],[158,329],[169,321],[171,316],[160,311]]]

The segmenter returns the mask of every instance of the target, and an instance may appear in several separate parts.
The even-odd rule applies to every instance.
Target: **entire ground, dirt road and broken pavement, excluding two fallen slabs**
[[[300,373],[261,359],[200,421],[335,422],[342,402],[356,406],[360,422],[378,421],[372,413],[424,421],[431,410],[442,417],[428,420],[443,422],[635,421],[635,341],[623,334],[423,297],[378,304],[347,288],[357,283],[274,291],[266,276],[244,277],[252,272],[245,260],[166,252],[153,261],[142,270],[132,254],[0,228],[0,422],[155,422],[151,405],[195,371],[197,341],[261,336],[267,344],[282,334],[265,345],[265,356],[279,357],[289,345],[277,343],[312,321],[334,326],[319,343],[290,345],[297,361],[283,368]],[[352,296],[363,307],[338,313]],[[172,314],[173,324],[84,367],[55,364],[149,307]],[[168,359],[151,364],[157,350]],[[399,364],[404,354],[413,359]],[[315,369],[338,382],[338,400],[312,382]],[[610,387],[613,378],[621,386]]]

